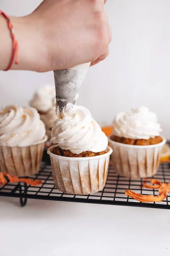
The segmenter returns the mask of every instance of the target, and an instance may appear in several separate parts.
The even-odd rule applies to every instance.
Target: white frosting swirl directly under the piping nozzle
[[[57,108],[57,120],[52,128],[51,143],[73,154],[84,151],[105,151],[108,138],[87,108],[68,103],[62,112]]]

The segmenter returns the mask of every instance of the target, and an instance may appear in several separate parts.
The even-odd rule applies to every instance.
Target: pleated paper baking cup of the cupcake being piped
[[[57,145],[48,148],[54,183],[59,191],[87,195],[102,190],[108,176],[112,149],[96,157],[62,157],[51,153]]]

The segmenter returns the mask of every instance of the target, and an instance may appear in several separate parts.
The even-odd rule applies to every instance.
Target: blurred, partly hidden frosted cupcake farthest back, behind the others
[[[45,124],[48,140],[51,139],[51,129],[56,120],[56,91],[55,86],[46,84],[40,87],[30,101],[30,106],[37,109],[42,122]]]

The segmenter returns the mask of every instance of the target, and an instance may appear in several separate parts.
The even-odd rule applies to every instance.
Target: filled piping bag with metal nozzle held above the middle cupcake
[[[88,72],[90,64],[91,62],[88,62],[71,69],[54,70],[56,106],[59,106],[60,112],[67,103],[74,105],[79,96],[79,88]]]

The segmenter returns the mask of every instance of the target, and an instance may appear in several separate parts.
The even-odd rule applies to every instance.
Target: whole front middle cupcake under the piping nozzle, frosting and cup
[[[87,108],[68,103],[52,128],[48,149],[54,183],[62,192],[87,195],[102,190],[112,149]]]

